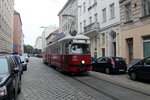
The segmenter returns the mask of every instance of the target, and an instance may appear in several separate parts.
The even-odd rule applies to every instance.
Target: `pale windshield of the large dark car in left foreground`
[[[0,58],[0,74],[8,73],[8,61],[5,58]]]

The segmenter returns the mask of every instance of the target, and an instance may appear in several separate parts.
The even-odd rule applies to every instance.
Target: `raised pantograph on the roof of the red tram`
[[[62,17],[72,17],[74,18],[74,20],[76,19],[76,16],[74,15],[69,15],[69,14],[63,14]],[[75,36],[77,34],[77,30],[72,30],[72,27],[73,27],[73,21],[71,19],[69,19],[71,21],[71,26],[70,26],[70,29],[69,29],[69,34],[72,35],[72,36]]]

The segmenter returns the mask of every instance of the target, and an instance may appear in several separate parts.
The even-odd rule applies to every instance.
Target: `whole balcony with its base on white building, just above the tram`
[[[84,27],[84,33],[85,33],[85,35],[90,35],[90,33],[92,33],[94,35],[94,33],[95,34],[98,33],[99,29],[100,29],[99,23],[94,22],[94,23]]]

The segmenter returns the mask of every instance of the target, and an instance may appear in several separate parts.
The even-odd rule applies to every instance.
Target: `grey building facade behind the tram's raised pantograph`
[[[59,16],[59,32],[65,35],[70,31],[78,31],[78,0],[68,0],[64,7],[58,13]],[[77,32],[78,33],[78,32]]]

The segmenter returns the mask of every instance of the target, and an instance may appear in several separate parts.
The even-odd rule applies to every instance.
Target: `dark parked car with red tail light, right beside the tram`
[[[126,62],[121,57],[100,57],[96,59],[92,67],[95,71],[103,71],[107,74],[127,71]]]

